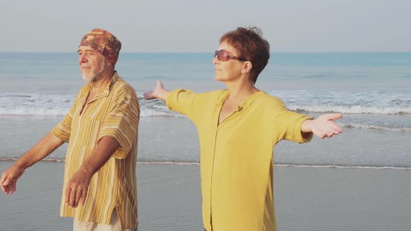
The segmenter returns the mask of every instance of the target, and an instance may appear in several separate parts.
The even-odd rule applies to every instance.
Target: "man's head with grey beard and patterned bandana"
[[[112,72],[120,49],[121,42],[108,31],[93,29],[84,35],[78,49],[83,79],[94,81],[103,72]]]

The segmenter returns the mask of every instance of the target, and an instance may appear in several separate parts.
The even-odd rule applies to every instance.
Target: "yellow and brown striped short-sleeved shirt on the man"
[[[123,228],[137,227],[137,136],[140,108],[135,90],[117,72],[105,90],[86,104],[91,84],[78,93],[67,116],[52,133],[68,142],[60,216],[109,224],[116,207]],[[82,113],[82,114],[80,114]],[[84,206],[65,205],[65,186],[104,136],[119,148],[91,178]]]

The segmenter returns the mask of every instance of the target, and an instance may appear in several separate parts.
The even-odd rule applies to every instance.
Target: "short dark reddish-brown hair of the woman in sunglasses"
[[[255,84],[270,58],[270,44],[261,36],[263,32],[257,27],[238,27],[235,31],[229,31],[222,35],[219,42],[227,42],[233,46],[238,54],[252,64],[250,71],[251,81]]]

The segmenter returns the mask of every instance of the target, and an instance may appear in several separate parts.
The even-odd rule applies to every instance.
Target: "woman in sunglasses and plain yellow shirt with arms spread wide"
[[[272,150],[286,139],[298,143],[343,132],[325,114],[316,120],[288,111],[277,97],[258,90],[258,74],[270,58],[270,45],[257,28],[222,36],[212,63],[225,90],[196,94],[157,87],[146,99],[166,100],[199,132],[203,225],[208,231],[276,230]]]

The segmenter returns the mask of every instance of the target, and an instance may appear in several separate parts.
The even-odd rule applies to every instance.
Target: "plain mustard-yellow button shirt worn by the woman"
[[[301,132],[309,117],[260,91],[218,125],[229,94],[174,90],[166,98],[167,106],[187,115],[199,132],[203,225],[207,231],[274,231],[272,150],[283,139],[309,141],[312,134]]]

